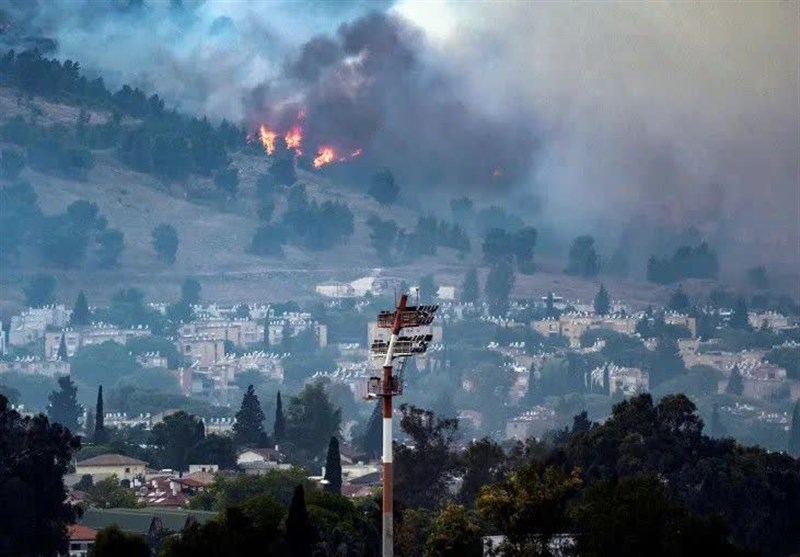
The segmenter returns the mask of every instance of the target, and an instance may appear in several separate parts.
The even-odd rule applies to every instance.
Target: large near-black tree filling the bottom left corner
[[[23,417],[0,395],[0,553],[67,553],[67,524],[77,513],[64,475],[79,447],[68,429],[42,414]]]

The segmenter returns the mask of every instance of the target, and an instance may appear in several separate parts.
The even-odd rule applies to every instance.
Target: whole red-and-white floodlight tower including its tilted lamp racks
[[[404,328],[430,325],[439,306],[407,307],[408,296],[403,294],[394,311],[381,311],[378,314],[378,328],[391,329],[389,340],[376,339],[370,346],[375,358],[383,359],[383,373],[380,377],[370,377],[367,397],[382,399],[383,403],[383,528],[382,555],[394,555],[394,475],[392,469],[392,398],[403,394],[403,364],[409,356],[424,354],[433,339],[431,334],[418,334],[401,337]],[[393,360],[397,358],[398,374],[393,374]]]

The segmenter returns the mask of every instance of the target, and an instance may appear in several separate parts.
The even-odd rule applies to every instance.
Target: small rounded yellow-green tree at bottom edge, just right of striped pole
[[[447,505],[433,521],[424,557],[481,557],[480,520],[461,505]]]

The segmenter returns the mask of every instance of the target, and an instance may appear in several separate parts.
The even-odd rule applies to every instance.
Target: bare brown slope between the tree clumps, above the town
[[[10,89],[0,88],[0,124],[22,116],[39,125],[74,126],[80,110],[38,97],[19,98]],[[107,122],[110,114],[90,112],[92,124]],[[123,119],[123,125],[135,123]],[[2,144],[2,147],[8,147]],[[365,194],[363,187],[342,187],[317,173],[298,171],[309,196],[347,204],[354,214],[354,234],[345,245],[323,252],[311,252],[294,246],[285,248],[285,257],[261,257],[246,253],[259,225],[256,214],[255,183],[269,167],[269,158],[253,150],[232,156],[232,166],[239,171],[237,198],[220,206],[202,195],[189,199],[187,192],[213,192],[208,178],[192,175],[185,180],[164,181],[152,174],[131,170],[123,165],[112,149],[93,150],[94,165],[84,180],[71,180],[43,174],[26,167],[20,180],[30,182],[45,214],[64,211],[73,201],[87,199],[97,203],[110,227],[125,235],[125,250],[117,270],[44,269],[58,278],[59,297],[69,300],[79,289],[87,291],[94,303],[101,303],[122,286],[142,288],[151,300],[169,300],[178,295],[180,282],[192,275],[201,279],[207,299],[222,303],[278,301],[313,295],[316,283],[326,280],[352,280],[381,267],[369,245],[366,220],[374,214],[391,218],[402,227],[411,228],[417,215],[399,206],[383,207]],[[206,196],[207,197],[207,196]],[[199,199],[199,200],[198,200]],[[285,210],[285,196],[276,200],[276,212]],[[160,263],[151,246],[151,231],[162,222],[175,226],[180,238],[177,261],[172,266]],[[410,282],[427,272],[434,272],[439,283],[459,284],[465,270],[480,264],[479,241],[474,235],[472,252],[459,261],[453,250],[440,248],[436,257],[426,257],[411,265],[386,268],[382,272]],[[599,280],[585,281],[561,273],[563,261],[537,257],[539,271],[519,275],[515,286],[518,296],[541,296],[556,291],[572,298],[589,299]],[[21,302],[20,288],[25,276],[42,271],[25,258],[14,268],[2,269],[0,303],[3,308]],[[485,274],[485,270],[482,274]],[[609,279],[605,279],[607,284]],[[644,306],[666,298],[669,288],[641,281],[610,279],[612,295]],[[696,288],[706,290],[705,285]]]

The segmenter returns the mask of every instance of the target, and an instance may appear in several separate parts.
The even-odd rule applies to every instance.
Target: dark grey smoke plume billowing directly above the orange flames
[[[454,75],[423,59],[423,45],[417,29],[378,13],[314,37],[290,56],[284,81],[249,103],[249,122],[285,127],[302,106],[306,145],[364,149],[367,164],[417,187],[474,191],[524,179],[536,146],[530,121],[483,113]],[[302,100],[286,102],[298,92]]]

